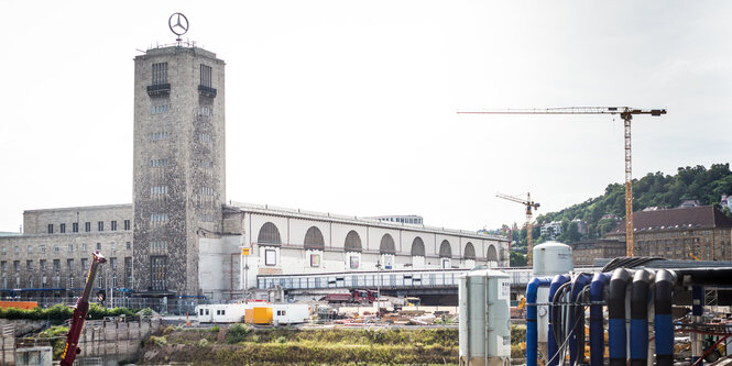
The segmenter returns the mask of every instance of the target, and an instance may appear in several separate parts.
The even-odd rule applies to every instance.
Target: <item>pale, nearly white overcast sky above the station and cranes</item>
[[[0,231],[23,210],[132,202],[133,57],[183,12],[227,63],[227,200],[431,226],[522,223],[633,171],[729,163],[729,1],[0,0]],[[732,192],[731,192],[732,193]]]

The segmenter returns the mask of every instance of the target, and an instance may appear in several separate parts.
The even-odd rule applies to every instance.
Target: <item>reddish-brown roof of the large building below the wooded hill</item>
[[[633,212],[633,231],[732,228],[732,219],[713,206]],[[625,220],[608,234],[625,234]]]

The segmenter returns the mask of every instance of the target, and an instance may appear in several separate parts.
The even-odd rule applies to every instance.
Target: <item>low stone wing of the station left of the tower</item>
[[[22,235],[0,237],[0,288],[79,295],[94,251],[109,259],[97,286],[132,287],[131,204],[30,210],[23,222]]]

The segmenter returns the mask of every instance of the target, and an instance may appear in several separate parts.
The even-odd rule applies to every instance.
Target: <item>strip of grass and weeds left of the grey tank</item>
[[[448,364],[458,359],[452,329],[254,329],[234,324],[217,341],[210,330],[172,331],[145,342],[150,363],[195,365]],[[145,355],[145,357],[148,357]]]

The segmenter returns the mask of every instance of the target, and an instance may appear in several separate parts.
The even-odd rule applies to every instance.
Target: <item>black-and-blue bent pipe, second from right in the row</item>
[[[640,269],[633,277],[631,290],[631,366],[648,363],[648,289],[653,273]]]

